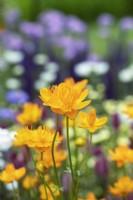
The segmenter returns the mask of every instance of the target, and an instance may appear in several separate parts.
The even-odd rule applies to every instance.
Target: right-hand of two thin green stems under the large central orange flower
[[[69,118],[67,116],[66,116],[66,134],[67,134],[68,157],[69,157],[69,163],[70,163],[70,170],[71,170],[71,174],[72,174],[72,182],[73,182],[73,186],[74,186],[74,172],[73,172],[73,167],[72,167],[70,141],[69,141]]]

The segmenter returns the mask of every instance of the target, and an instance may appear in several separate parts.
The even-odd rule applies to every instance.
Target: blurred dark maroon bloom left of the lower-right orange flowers
[[[109,173],[109,163],[105,156],[101,156],[97,159],[95,164],[95,171],[98,176],[106,177]]]

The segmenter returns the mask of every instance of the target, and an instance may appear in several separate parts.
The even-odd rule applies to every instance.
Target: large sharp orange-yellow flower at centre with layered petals
[[[88,90],[82,90],[77,85],[69,86],[68,83],[54,85],[51,89],[42,88],[40,98],[45,106],[50,106],[51,110],[58,114],[65,114],[70,119],[74,119],[77,110],[86,107],[90,100],[83,100],[87,97]]]

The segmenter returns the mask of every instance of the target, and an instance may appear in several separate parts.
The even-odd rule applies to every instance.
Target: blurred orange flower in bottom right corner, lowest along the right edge
[[[114,187],[109,187],[109,192],[115,196],[126,197],[130,192],[133,192],[133,180],[128,176],[123,176],[114,183]]]

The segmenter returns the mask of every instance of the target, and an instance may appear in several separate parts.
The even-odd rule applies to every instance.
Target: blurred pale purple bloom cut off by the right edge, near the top
[[[120,20],[120,28],[122,30],[133,30],[133,18],[132,17],[124,17]]]

